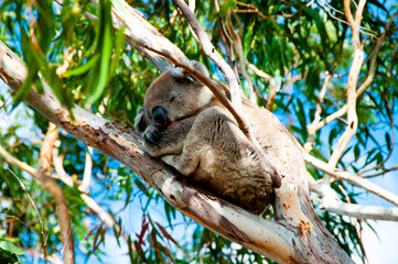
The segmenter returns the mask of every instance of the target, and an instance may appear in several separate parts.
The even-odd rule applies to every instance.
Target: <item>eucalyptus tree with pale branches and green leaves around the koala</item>
[[[397,130],[396,6],[2,1],[0,257],[100,257],[111,231],[132,263],[364,257],[361,219],[398,219],[398,197],[368,180],[398,168],[387,166]],[[240,89],[268,109],[286,155],[282,187],[263,218],[174,177],[131,129],[160,72],[184,67],[213,90],[189,58],[229,85],[226,103],[237,119],[245,117]],[[358,205],[358,191],[390,207]],[[120,199],[142,213],[137,234],[112,211]],[[166,224],[151,217],[154,206]],[[196,228],[176,241],[172,229],[181,220]]]

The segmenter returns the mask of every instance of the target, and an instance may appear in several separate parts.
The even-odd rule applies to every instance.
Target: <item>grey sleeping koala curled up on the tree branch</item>
[[[204,65],[192,62],[192,66],[208,77]],[[228,97],[228,89],[220,88]],[[273,128],[261,123],[261,112],[248,100],[243,105],[261,146],[272,147],[261,138]],[[182,68],[165,72],[149,87],[135,128],[150,155],[251,213],[261,215],[273,201],[273,188],[281,185],[276,168],[261,162],[232,114],[207,87]]]

